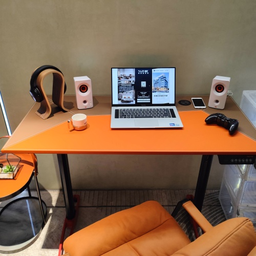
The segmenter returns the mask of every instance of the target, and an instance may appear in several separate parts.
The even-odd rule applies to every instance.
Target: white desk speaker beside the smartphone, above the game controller
[[[216,76],[212,80],[208,106],[223,110],[225,107],[230,77]]]

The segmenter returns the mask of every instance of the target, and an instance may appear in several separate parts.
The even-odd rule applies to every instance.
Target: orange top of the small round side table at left
[[[34,166],[31,156],[29,154],[17,154],[17,156],[22,158],[20,161],[22,170],[18,171],[15,179],[0,179],[0,201],[12,198],[22,192],[32,177]]]

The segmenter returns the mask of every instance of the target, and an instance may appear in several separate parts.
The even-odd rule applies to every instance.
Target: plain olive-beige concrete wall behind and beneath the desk
[[[176,67],[177,95],[209,94],[216,75],[229,76],[239,104],[255,90],[255,13],[254,0],[2,0],[0,90],[11,129],[33,104],[29,81],[41,65],[58,67],[71,95],[73,77],[84,75],[94,95],[110,95],[111,67]],[[69,156],[73,188],[195,188],[200,159]],[[41,187],[60,188],[56,156],[38,160]],[[215,158],[209,188],[222,172]]]

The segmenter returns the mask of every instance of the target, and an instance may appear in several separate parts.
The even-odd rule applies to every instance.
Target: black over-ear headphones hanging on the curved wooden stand
[[[46,69],[54,69],[54,70],[56,70],[56,71],[58,71],[62,74],[62,72],[58,68],[56,68],[54,66],[51,66],[51,65],[41,66],[33,72],[32,76],[31,76],[31,79],[30,79],[29,93],[30,93],[31,97],[34,99],[34,101],[36,101],[36,102],[41,102],[44,99],[41,92],[39,91],[39,89],[36,86],[36,79],[37,79],[38,75]],[[64,93],[66,92],[66,90],[67,90],[67,85],[66,85],[66,82],[65,82]]]

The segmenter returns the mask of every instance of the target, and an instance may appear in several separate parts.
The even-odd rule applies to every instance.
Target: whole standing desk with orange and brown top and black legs
[[[209,96],[200,97],[205,103],[208,102]],[[221,164],[240,161],[254,163],[256,131],[231,97],[227,97],[224,110],[199,110],[194,109],[192,104],[184,106],[178,103],[181,99],[190,98],[176,97],[176,106],[184,125],[178,129],[112,130],[110,96],[94,96],[94,107],[88,110],[78,110],[75,96],[65,96],[64,105],[70,111],[63,112],[52,103],[52,114],[46,120],[35,114],[39,108],[39,103],[35,103],[4,145],[2,152],[57,154],[68,220],[75,217],[68,154],[202,155],[194,197],[195,205],[201,210],[213,155],[219,156]],[[88,116],[86,130],[68,129],[67,121],[76,113]],[[238,131],[231,136],[224,127],[207,125],[204,120],[213,113],[238,119]],[[124,136],[143,138],[143,143],[123,145],[120,138]]]

